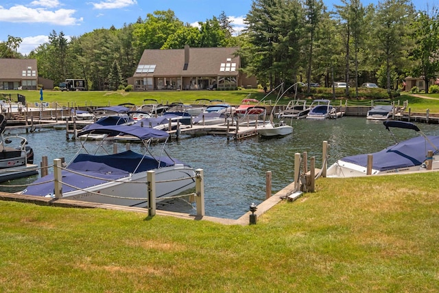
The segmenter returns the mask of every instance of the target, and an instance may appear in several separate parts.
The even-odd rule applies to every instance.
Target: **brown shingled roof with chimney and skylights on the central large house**
[[[234,56],[237,49],[237,47],[146,49],[143,51],[139,65],[156,65],[154,72],[134,73],[133,76],[235,76],[239,74],[240,66],[239,56]],[[189,62],[185,66],[187,59]]]

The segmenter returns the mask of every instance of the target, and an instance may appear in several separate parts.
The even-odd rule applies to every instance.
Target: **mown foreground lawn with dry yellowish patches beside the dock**
[[[438,292],[437,176],[322,178],[252,226],[0,202],[0,291]]]

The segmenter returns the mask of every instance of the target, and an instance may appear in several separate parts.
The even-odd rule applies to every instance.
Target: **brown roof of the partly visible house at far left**
[[[23,71],[31,67],[35,76],[23,76]],[[35,80],[38,78],[36,59],[0,59],[0,80]]]

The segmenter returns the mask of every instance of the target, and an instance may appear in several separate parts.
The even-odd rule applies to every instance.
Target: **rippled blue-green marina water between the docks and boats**
[[[171,141],[167,151],[194,169],[204,169],[206,215],[237,219],[248,211],[249,205],[265,200],[265,173],[272,171],[272,194],[294,180],[294,154],[307,152],[316,157],[316,167],[322,165],[322,142],[328,141],[329,165],[336,159],[353,154],[382,150],[394,143],[382,121],[368,121],[364,117],[342,117],[314,121],[287,120],[294,127],[287,137],[262,139],[250,137],[241,141],[228,141],[223,136],[183,137]],[[437,124],[418,124],[425,134],[439,135]],[[6,130],[7,132],[9,130]],[[415,136],[413,130],[392,130],[399,140]],[[42,128],[25,134],[25,130],[12,130],[12,134],[27,137],[35,153],[35,163],[47,156],[49,165],[56,158],[68,162],[80,148],[79,141],[67,140],[65,130]],[[159,150],[161,145],[152,146]],[[119,150],[125,145],[120,143]],[[139,147],[133,143],[131,149]],[[49,171],[51,172],[51,170]],[[11,184],[32,183],[36,176],[14,180]],[[3,183],[5,184],[5,183]],[[0,187],[1,191],[17,191]]]

